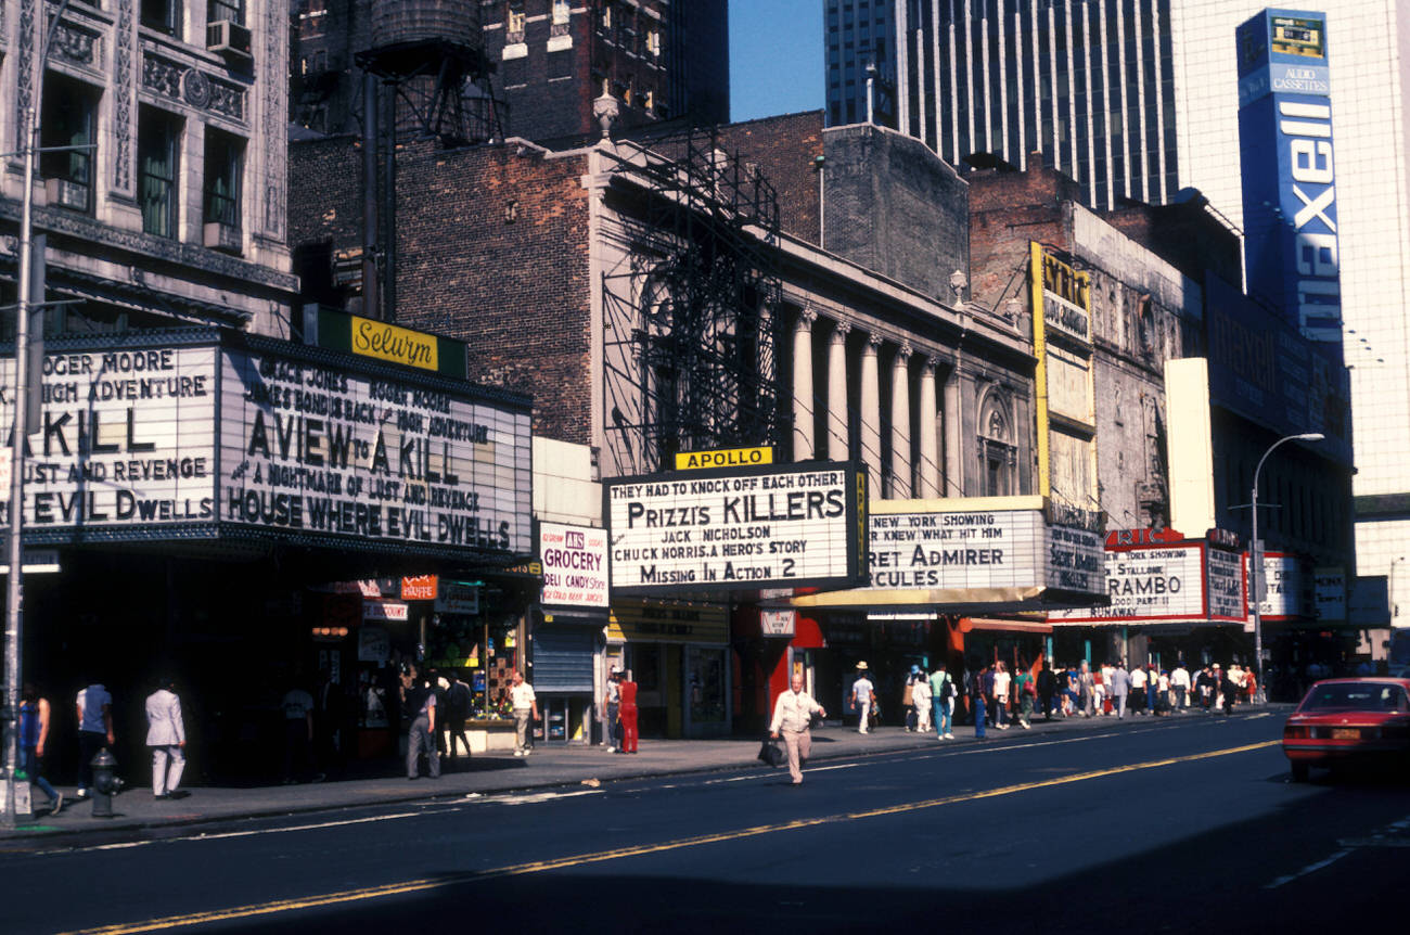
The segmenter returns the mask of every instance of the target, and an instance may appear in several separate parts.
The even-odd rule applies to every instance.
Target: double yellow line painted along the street
[[[513,877],[525,876],[529,873],[544,873],[548,870],[563,870],[565,867],[577,867],[589,863],[603,863],[606,860],[622,860],[626,857],[640,857],[651,853],[663,853],[667,850],[681,850],[685,848],[699,848],[702,845],[721,843],[725,841],[742,841],[744,838],[756,838],[759,835],[768,835],[783,831],[798,831],[799,828],[815,828],[818,825],[830,825],[836,822],[846,821],[860,821],[863,818],[878,818],[881,815],[901,815],[905,812],[922,811],[926,808],[938,808],[940,805],[955,805],[959,802],[973,802],[983,798],[998,798],[1001,795],[1015,795],[1018,793],[1028,793],[1036,788],[1052,788],[1055,786],[1067,786],[1070,783],[1086,783],[1094,778],[1103,778],[1107,776],[1120,776],[1121,773],[1135,773],[1138,770],[1153,770],[1163,766],[1175,766],[1177,763],[1194,763],[1197,760],[1208,760],[1217,756],[1231,756],[1234,753],[1248,753],[1251,750],[1262,750],[1265,747],[1277,746],[1282,740],[1265,740],[1262,743],[1246,743],[1244,746],[1225,747],[1222,750],[1210,750],[1208,753],[1191,753],[1189,756],[1172,756],[1165,760],[1146,760],[1145,763],[1131,763],[1128,766],[1112,766],[1105,770],[1091,770],[1087,773],[1073,773],[1072,776],[1060,776],[1058,778],[1045,778],[1034,783],[1018,783],[1017,786],[1003,786],[998,788],[988,788],[979,793],[960,793],[957,795],[946,795],[943,798],[928,798],[918,802],[904,802],[901,805],[890,805],[887,808],[871,808],[860,812],[842,812],[838,815],[823,815],[819,818],[798,818],[795,821],[785,821],[773,825],[756,825],[753,828],[740,828],[736,831],[722,831],[712,835],[697,835],[694,838],[677,838],[675,841],[664,841],[657,845],[636,845],[632,848],[618,848],[615,850],[598,850],[594,853],[574,855],[570,857],[557,857],[554,860],[533,860],[530,863],[516,863],[505,867],[495,867],[491,870],[479,870],[472,873],[461,873],[455,876],[441,876],[427,880],[406,880],[403,883],[388,883],[384,886],[367,887],[361,890],[344,890],[341,893],[324,893],[321,896],[310,896],[296,900],[276,900],[272,903],[257,903],[254,905],[238,905],[228,910],[216,910],[210,912],[192,912],[190,915],[168,915],[165,918],[154,918],[142,922],[124,922],[118,925],[103,925],[100,928],[86,928],[79,932],[69,932],[66,935],[130,935],[134,932],[152,932],[164,928],[182,928],[188,925],[204,925],[207,922],[224,922],[237,918],[251,918],[258,915],[272,915],[275,912],[292,912],[295,910],[309,910],[321,905],[338,905],[345,903],[357,903],[361,900],[376,900],[388,896],[400,896],[403,893],[422,893],[426,890],[444,890],[453,886],[464,886],[467,883],[474,883],[478,880],[494,880],[498,877]]]

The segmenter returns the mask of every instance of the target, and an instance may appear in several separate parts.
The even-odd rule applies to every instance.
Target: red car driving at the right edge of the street
[[[1313,766],[1410,754],[1410,678],[1328,678],[1283,725],[1293,780]]]

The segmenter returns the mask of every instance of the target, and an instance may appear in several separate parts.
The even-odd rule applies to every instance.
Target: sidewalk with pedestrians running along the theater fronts
[[[1261,711],[1277,714],[1285,708],[1290,708],[1290,705],[1241,708],[1241,714]],[[1128,716],[1125,721],[1066,718],[1043,722],[1036,719],[1031,731],[1022,731],[1017,726],[1010,731],[990,729],[986,743],[1011,743],[1055,732],[1121,729],[1203,719],[1207,719],[1203,714],[1173,718]],[[829,722],[825,728],[814,731],[812,762],[974,743],[977,740],[973,726],[959,728],[953,740],[936,740],[933,733],[908,733],[898,726],[883,726],[871,733],[860,735],[838,722]],[[744,739],[643,740],[642,752],[632,756],[612,754],[602,746],[540,743],[534,753],[525,759],[517,759],[508,752],[479,754],[468,763],[461,757],[455,763],[455,771],[451,771],[450,763],[443,760],[443,774],[439,780],[423,777],[409,781],[402,774],[389,774],[379,778],[330,780],[257,788],[193,787],[189,790],[188,798],[169,801],[154,800],[149,787],[128,786],[113,798],[113,818],[94,818],[92,804],[73,798],[72,787],[59,787],[59,791],[63,793],[63,811],[58,815],[47,815],[44,814],[47,805],[39,804],[44,801],[44,793],[34,790],[34,800],[41,814],[28,819],[21,818],[20,826],[14,831],[0,831],[0,848],[34,846],[44,842],[72,846],[83,843],[83,836],[103,836],[104,841],[114,838],[140,839],[148,836],[149,831],[161,828],[376,807],[429,798],[462,798],[475,793],[489,795],[533,788],[581,787],[584,783],[591,784],[592,780],[606,783],[743,767],[763,770],[766,767],[756,759],[757,753],[759,740]],[[389,763],[388,771],[391,773],[393,769]]]

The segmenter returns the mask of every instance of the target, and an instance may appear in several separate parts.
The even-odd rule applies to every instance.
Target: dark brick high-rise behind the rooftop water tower
[[[295,124],[361,133],[371,6],[292,0]],[[482,0],[472,18],[479,34],[465,45],[484,54],[486,80],[465,87],[462,106],[482,117],[494,109],[485,138],[594,137],[592,102],[603,93],[620,106],[620,128],[729,118],[726,0]]]

